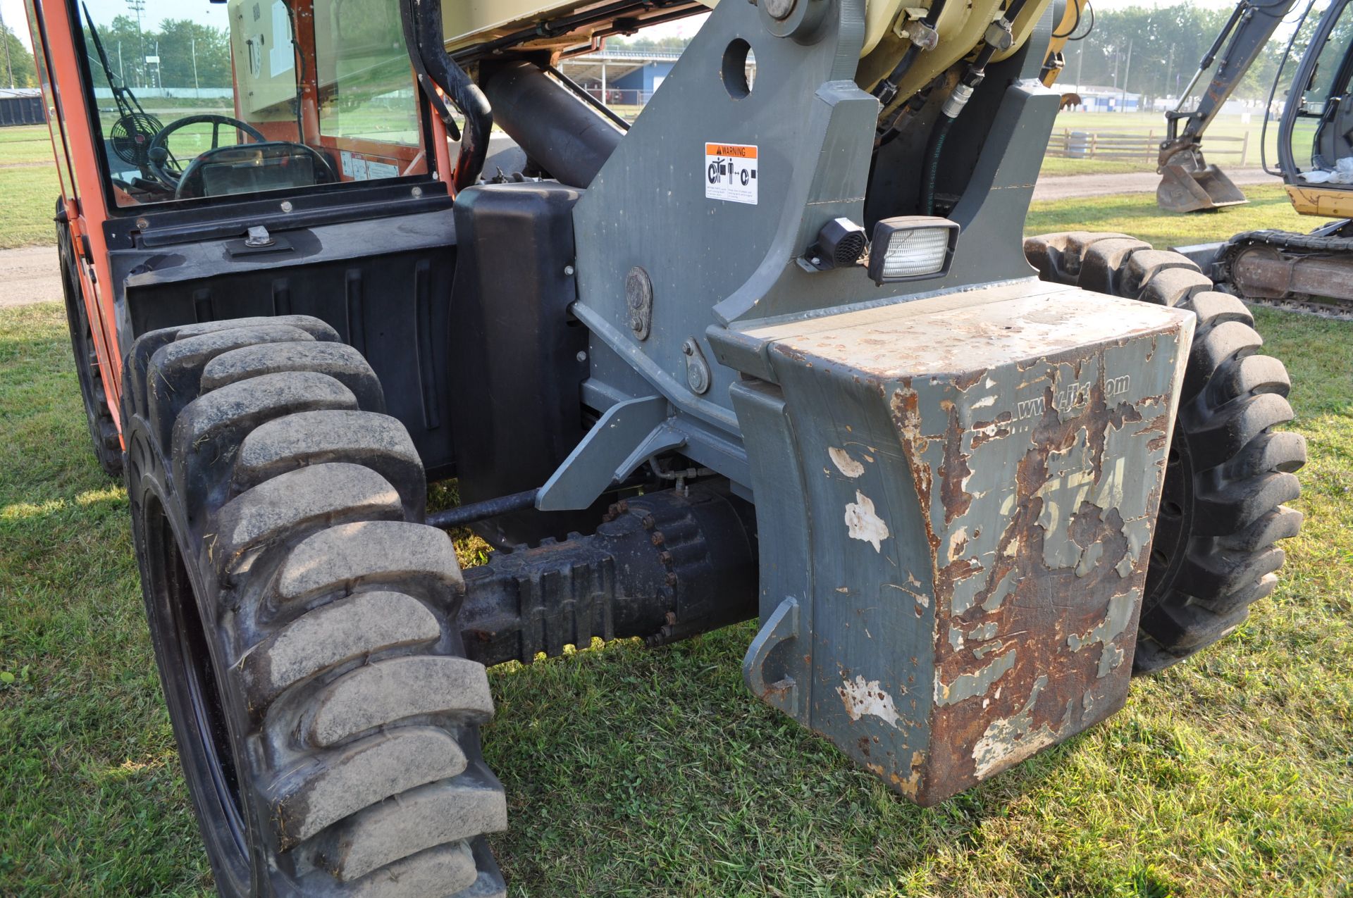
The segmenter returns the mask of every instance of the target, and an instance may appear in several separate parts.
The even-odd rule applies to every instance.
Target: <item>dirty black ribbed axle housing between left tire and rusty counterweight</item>
[[[597,533],[495,552],[465,571],[460,630],[483,664],[603,640],[674,642],[758,613],[755,515],[693,486],[622,499]]]

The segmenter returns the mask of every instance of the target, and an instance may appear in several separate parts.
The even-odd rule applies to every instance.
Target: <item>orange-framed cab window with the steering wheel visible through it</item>
[[[398,0],[87,0],[119,206],[425,174]]]

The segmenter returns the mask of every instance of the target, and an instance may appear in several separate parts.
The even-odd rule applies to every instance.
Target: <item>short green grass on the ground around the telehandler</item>
[[[1283,206],[1184,218],[1100,197],[1039,204],[1030,230],[1181,243]],[[9,208],[0,241],[26,214]],[[746,691],[752,625],[498,667],[484,740],[510,801],[494,840],[510,894],[1353,894],[1353,325],[1262,310],[1258,325],[1296,384],[1307,523],[1230,640],[930,810]],[[126,496],[93,463],[51,303],[0,312],[0,895],[211,894]]]

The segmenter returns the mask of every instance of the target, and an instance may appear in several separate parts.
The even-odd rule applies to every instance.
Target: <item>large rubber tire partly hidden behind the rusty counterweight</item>
[[[1300,495],[1306,440],[1275,430],[1292,419],[1291,383],[1257,354],[1245,304],[1178,253],[1084,231],[1032,237],[1024,253],[1043,280],[1197,315],[1132,661],[1160,671],[1231,633],[1277,584],[1277,541],[1302,526],[1283,503]]]

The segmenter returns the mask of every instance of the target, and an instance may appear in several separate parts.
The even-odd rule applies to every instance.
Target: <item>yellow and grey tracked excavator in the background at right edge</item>
[[[1173,212],[1196,212],[1246,202],[1238,187],[1203,158],[1203,133],[1258,58],[1296,0],[1237,5],[1203,58],[1180,105],[1166,114],[1157,202]],[[1249,302],[1353,316],[1353,7],[1334,0],[1323,11],[1308,0],[1287,42],[1269,95],[1279,91],[1277,158],[1265,168],[1281,176],[1292,207],[1302,215],[1335,219],[1310,234],[1246,231],[1215,246],[1188,247],[1212,280]],[[1312,27],[1307,27],[1311,23]],[[1304,51],[1299,43],[1308,38]],[[1212,66],[1216,66],[1212,72]],[[1291,66],[1295,65],[1295,72]],[[1211,78],[1207,78],[1211,72]],[[1289,74],[1291,73],[1291,74]],[[1204,85],[1200,88],[1200,85]],[[1275,168],[1276,166],[1276,168]],[[1208,268],[1210,265],[1210,268]]]

